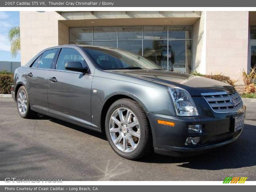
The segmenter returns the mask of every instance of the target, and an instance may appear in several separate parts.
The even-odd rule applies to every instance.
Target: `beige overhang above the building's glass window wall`
[[[194,25],[200,11],[84,11],[58,12],[59,21],[67,27]]]

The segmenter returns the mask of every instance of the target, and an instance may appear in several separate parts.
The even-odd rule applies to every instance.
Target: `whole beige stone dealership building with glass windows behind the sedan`
[[[256,63],[256,12],[20,12],[21,65],[63,44],[115,47],[180,73],[223,73],[243,84]]]

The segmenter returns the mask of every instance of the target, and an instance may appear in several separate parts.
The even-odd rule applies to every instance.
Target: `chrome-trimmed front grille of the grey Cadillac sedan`
[[[236,112],[243,107],[242,99],[235,90],[231,92],[202,93],[201,95],[216,113]],[[231,98],[236,100],[235,105]]]

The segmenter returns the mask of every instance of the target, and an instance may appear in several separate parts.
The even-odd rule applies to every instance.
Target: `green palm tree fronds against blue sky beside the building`
[[[12,57],[16,57],[20,51],[20,26],[11,28],[8,36],[11,42],[11,55]]]

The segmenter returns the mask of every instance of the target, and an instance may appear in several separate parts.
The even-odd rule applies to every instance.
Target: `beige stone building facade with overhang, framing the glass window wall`
[[[248,64],[249,12],[20,12],[21,65],[39,51],[68,44],[69,27],[193,25],[193,69],[239,79]],[[240,86],[239,86],[240,87]]]

